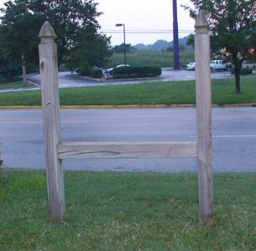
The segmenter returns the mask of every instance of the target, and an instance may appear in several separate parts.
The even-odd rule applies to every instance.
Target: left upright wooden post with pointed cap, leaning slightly
[[[65,214],[65,192],[61,160],[58,158],[57,151],[60,143],[58,63],[55,32],[49,22],[44,22],[39,38],[41,39],[39,64],[49,213],[52,222],[61,222]]]

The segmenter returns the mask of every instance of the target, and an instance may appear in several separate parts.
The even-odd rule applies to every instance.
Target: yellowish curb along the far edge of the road
[[[60,105],[60,109],[79,110],[79,109],[157,109],[157,108],[195,108],[196,105]],[[256,107],[256,103],[248,104],[231,104],[231,105],[212,105],[212,107]],[[41,105],[11,105],[0,106],[0,110],[40,110]]]

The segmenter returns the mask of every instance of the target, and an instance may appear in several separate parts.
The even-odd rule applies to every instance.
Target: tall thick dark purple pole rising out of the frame
[[[177,18],[177,0],[172,0],[173,36],[174,36],[174,69],[180,69],[179,30]]]

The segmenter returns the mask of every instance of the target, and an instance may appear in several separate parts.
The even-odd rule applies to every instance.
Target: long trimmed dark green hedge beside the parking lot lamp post
[[[162,74],[162,69],[158,66],[127,66],[118,67],[112,70],[114,79],[131,79],[156,77]]]

